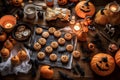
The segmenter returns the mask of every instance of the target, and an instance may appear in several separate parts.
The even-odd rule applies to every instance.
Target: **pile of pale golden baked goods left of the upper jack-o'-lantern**
[[[47,8],[46,20],[56,20],[57,18],[59,18],[61,21],[69,21],[70,10],[67,8]]]

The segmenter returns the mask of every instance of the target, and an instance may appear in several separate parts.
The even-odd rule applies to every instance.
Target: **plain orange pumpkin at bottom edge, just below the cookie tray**
[[[54,71],[50,69],[50,66],[46,65],[40,68],[40,74],[41,74],[41,77],[45,79],[52,79],[54,75]]]

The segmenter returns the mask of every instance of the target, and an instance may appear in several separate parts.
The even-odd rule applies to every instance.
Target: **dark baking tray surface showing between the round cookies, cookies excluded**
[[[73,38],[72,38],[71,40],[69,40],[69,41],[66,41],[65,45],[59,45],[57,49],[53,49],[53,52],[52,52],[52,53],[57,54],[57,61],[55,61],[55,62],[50,61],[50,60],[49,60],[49,55],[46,55],[46,57],[45,57],[44,60],[39,60],[39,59],[37,58],[37,53],[38,53],[39,51],[45,52],[45,47],[48,46],[48,45],[50,45],[50,43],[51,43],[52,41],[57,41],[58,38],[56,38],[56,37],[54,37],[54,35],[51,35],[51,34],[50,34],[50,36],[46,39],[46,41],[47,41],[47,42],[46,42],[46,45],[42,46],[42,48],[41,48],[39,51],[35,51],[35,50],[33,49],[33,45],[34,45],[35,42],[38,41],[39,38],[42,37],[40,34],[36,34],[36,33],[35,33],[35,29],[36,29],[37,27],[41,27],[41,28],[43,29],[43,32],[44,32],[44,31],[48,31],[48,28],[49,28],[49,27],[43,26],[43,25],[34,26],[34,33],[33,33],[32,37],[31,37],[32,39],[31,39],[31,41],[30,41],[30,43],[31,43],[31,47],[30,47],[30,49],[31,49],[31,59],[32,59],[32,60],[36,60],[36,61],[39,63],[39,65],[40,65],[40,64],[47,64],[47,65],[50,65],[50,66],[52,66],[52,67],[61,67],[61,68],[71,69],[71,67],[72,67],[71,64],[72,64],[73,56],[72,56],[72,53],[71,53],[71,52],[66,51],[66,48],[65,48],[65,47],[66,47],[67,44],[72,44],[72,45],[74,46],[74,49],[73,49],[73,50],[75,50],[75,49],[76,49],[76,46],[75,46],[75,45],[76,45],[76,42],[77,42],[77,41],[76,41],[76,39],[77,39],[76,36],[75,36],[74,34],[72,34],[72,35],[73,35]],[[63,29],[61,29],[60,31],[62,32],[61,37],[64,37],[64,34],[67,33],[67,32],[64,31]],[[63,64],[63,63],[61,62],[61,60],[60,60],[61,55],[64,55],[64,54],[66,54],[66,55],[69,57],[69,61],[68,61],[68,63],[66,63],[66,64]]]

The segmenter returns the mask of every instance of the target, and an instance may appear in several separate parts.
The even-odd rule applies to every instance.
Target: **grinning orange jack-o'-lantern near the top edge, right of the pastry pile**
[[[89,1],[81,1],[75,6],[75,13],[81,18],[93,16],[95,13],[95,6]]]

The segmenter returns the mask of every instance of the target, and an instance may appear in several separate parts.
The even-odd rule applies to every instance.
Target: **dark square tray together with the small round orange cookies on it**
[[[32,56],[39,64],[71,69],[76,36],[55,27],[38,25],[34,29]]]

